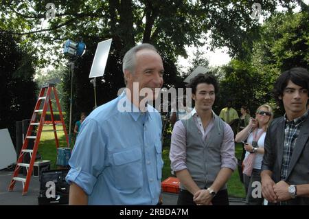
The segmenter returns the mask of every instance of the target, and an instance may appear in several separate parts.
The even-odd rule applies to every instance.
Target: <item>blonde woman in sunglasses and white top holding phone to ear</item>
[[[259,106],[255,113],[255,119],[250,118],[249,125],[242,131],[238,132],[235,141],[244,143],[246,154],[244,157],[244,187],[246,189],[247,205],[262,205],[262,197],[253,197],[253,189],[256,184],[253,182],[261,182],[261,166],[264,155],[264,140],[268,124],[273,119],[273,109],[267,104]],[[254,192],[255,194],[255,192]]]

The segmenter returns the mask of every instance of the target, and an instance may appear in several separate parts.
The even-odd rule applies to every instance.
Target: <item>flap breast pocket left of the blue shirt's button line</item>
[[[138,189],[143,186],[140,148],[116,152],[113,160],[117,189]]]

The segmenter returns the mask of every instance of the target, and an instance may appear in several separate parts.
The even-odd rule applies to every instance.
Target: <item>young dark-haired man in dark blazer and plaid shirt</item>
[[[308,90],[304,68],[284,71],[275,82],[275,99],[286,113],[266,132],[261,178],[268,205],[309,205]]]

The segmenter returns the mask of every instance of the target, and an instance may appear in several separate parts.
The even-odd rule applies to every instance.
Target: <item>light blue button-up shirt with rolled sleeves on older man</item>
[[[135,112],[119,111],[120,100]],[[150,105],[146,113],[136,111],[122,93],[82,122],[66,180],[84,190],[89,205],[157,205],[161,116]]]

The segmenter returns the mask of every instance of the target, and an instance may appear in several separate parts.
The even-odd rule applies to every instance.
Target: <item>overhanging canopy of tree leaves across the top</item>
[[[185,45],[203,45],[211,31],[213,47],[227,46],[232,56],[243,56],[258,38],[258,22],[251,18],[253,3],[262,14],[275,13],[278,4],[289,9],[302,1],[150,1],[56,0],[54,19],[43,27],[45,1],[2,1],[2,30],[27,36],[26,41],[58,47],[67,38],[113,38],[120,56],[138,42],[152,43],[172,61],[186,56]],[[58,45],[57,45],[58,43]],[[45,54],[49,47],[37,47]]]

